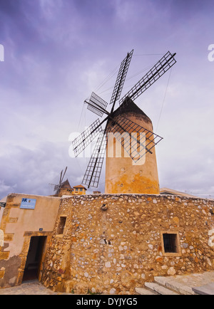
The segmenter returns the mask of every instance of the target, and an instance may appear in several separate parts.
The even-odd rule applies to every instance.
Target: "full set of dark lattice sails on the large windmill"
[[[82,182],[82,184],[86,184],[88,188],[98,187],[103,159],[105,157],[106,147],[108,147],[108,135],[110,132],[114,133],[119,142],[121,142],[121,134],[128,132],[128,135],[123,139],[121,145],[133,162],[138,162],[138,160],[145,156],[146,153],[152,154],[153,152],[151,150],[153,147],[163,139],[163,137],[153,133],[152,129],[149,130],[148,128],[141,126],[141,124],[136,123],[136,121],[131,120],[130,117],[125,117],[124,110],[128,110],[131,106],[133,108],[134,106],[136,113],[141,111],[133,103],[133,100],[138,98],[139,95],[153,85],[158,78],[161,78],[161,76],[176,63],[174,58],[175,53],[173,55],[169,51],[165,53],[161,60],[158,61],[151,70],[146,73],[146,75],[143,75],[143,78],[141,78],[141,80],[139,80],[138,83],[136,83],[136,85],[134,85],[133,88],[131,88],[131,90],[120,99],[132,55],[133,50],[127,54],[126,58],[124,58],[118,70],[118,76],[110,100],[110,112],[106,110],[108,103],[96,95],[96,93],[92,93],[91,98],[84,101],[88,105],[88,110],[91,110],[91,112],[99,117],[103,117],[103,114],[106,114],[106,117],[102,121],[98,118],[72,142],[73,152],[77,157],[93,141],[93,139],[98,136],[96,146],[91,155],[91,159],[88,162],[88,167],[86,168]],[[119,108],[115,110],[117,101],[119,103]],[[106,124],[104,128],[102,128],[104,122],[106,122]],[[136,132],[137,135],[143,132],[146,135],[146,139],[144,142],[141,142],[137,136],[133,137],[133,144],[130,147],[131,132]]]

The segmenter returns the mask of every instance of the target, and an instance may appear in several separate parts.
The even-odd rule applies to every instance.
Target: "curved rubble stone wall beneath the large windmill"
[[[42,282],[66,292],[132,294],[154,276],[213,270],[213,206],[169,195],[64,198]],[[61,216],[66,224],[58,234]],[[165,252],[163,233],[178,236],[176,253]]]

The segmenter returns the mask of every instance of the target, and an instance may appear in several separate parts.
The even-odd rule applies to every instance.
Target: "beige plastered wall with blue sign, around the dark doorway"
[[[22,198],[36,199],[35,209],[20,209]],[[0,288],[21,283],[31,236],[50,236],[60,201],[58,197],[9,194],[0,225],[4,231]]]

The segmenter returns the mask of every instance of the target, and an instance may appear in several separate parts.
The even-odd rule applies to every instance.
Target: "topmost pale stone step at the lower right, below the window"
[[[155,277],[155,283],[158,283],[160,286],[165,288],[169,288],[170,290],[174,290],[175,293],[183,294],[183,295],[195,295],[196,293],[193,291],[190,286],[185,286],[185,284],[180,283],[178,281],[173,280],[170,277]]]

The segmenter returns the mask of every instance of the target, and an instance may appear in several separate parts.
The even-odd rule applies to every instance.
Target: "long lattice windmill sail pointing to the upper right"
[[[161,58],[161,60],[158,61],[155,66],[153,66],[153,68],[151,68],[151,70],[149,70],[148,73],[146,73],[146,75],[144,75],[143,78],[141,78],[141,80],[139,80],[138,83],[128,91],[128,93],[126,93],[126,95],[123,96],[119,101],[119,104],[121,105],[123,100],[127,97],[135,100],[139,95],[144,93],[146,89],[155,83],[158,78],[176,63],[175,58],[173,58],[174,56],[175,54],[172,55],[169,51],[168,53],[165,53],[163,58]]]

